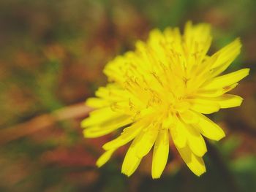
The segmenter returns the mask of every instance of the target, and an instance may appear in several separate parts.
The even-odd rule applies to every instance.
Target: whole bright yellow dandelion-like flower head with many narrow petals
[[[105,66],[109,83],[86,101],[96,110],[82,121],[83,134],[92,138],[123,130],[103,145],[105,153],[97,166],[132,141],[121,172],[128,176],[135,172],[154,146],[151,173],[159,178],[173,142],[192,172],[198,176],[206,172],[202,135],[218,141],[225,133],[203,114],[240,106],[243,99],[227,92],[249,74],[249,69],[241,69],[219,76],[240,53],[239,39],[214,55],[207,55],[210,45],[210,26],[188,22],[183,35],[178,28],[154,29],[146,42],[136,43],[135,51]]]

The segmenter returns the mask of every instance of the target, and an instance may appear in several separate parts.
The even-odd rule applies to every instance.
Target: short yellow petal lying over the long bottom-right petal
[[[195,153],[195,155],[202,157],[206,153],[207,148],[206,142],[201,136],[199,130],[189,125],[187,125],[185,129],[187,131],[187,144],[190,149]]]

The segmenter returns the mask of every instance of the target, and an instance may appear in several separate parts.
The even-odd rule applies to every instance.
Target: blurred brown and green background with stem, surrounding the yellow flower
[[[255,9],[254,0],[1,0],[0,191],[256,191]],[[211,116],[227,137],[208,142],[206,174],[196,177],[171,153],[152,180],[149,154],[127,178],[125,148],[97,169],[113,136],[84,139],[80,120],[83,101],[106,83],[106,62],[151,28],[187,20],[211,23],[211,53],[241,37],[228,70],[251,69],[233,91],[242,106]]]

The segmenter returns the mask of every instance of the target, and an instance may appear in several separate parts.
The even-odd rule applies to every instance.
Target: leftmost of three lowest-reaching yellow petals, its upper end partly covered
[[[132,142],[132,145],[127,150],[127,154],[124,157],[124,161],[121,167],[121,172],[126,174],[128,177],[135,172],[141,161],[141,158],[138,158],[136,155],[133,145],[134,142]]]

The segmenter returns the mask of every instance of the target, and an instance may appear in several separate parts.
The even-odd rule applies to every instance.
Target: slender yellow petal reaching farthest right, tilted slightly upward
[[[236,72],[232,72],[229,74],[225,74],[219,77],[215,77],[212,80],[209,80],[204,85],[202,85],[203,89],[216,89],[216,88],[224,88],[228,85],[232,85],[249,74],[249,69],[241,69]]]

